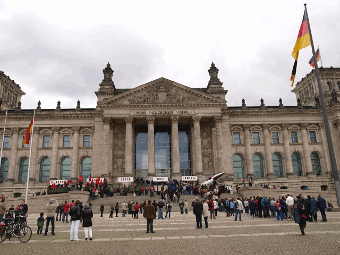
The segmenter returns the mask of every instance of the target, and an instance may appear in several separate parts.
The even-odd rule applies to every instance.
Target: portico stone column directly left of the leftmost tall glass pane
[[[125,118],[126,123],[126,133],[125,133],[125,175],[126,176],[133,176],[132,172],[132,147],[133,147],[133,136],[132,136],[132,122],[133,117],[129,116]]]

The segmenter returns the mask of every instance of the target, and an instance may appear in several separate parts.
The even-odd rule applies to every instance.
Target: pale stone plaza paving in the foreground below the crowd
[[[171,219],[154,220],[154,231],[146,232],[146,220],[99,217],[93,218],[93,241],[85,241],[83,228],[79,228],[81,242],[69,240],[70,224],[56,222],[55,236],[37,235],[38,215],[29,215],[28,225],[33,234],[28,243],[12,238],[0,244],[3,254],[340,254],[340,213],[328,213],[328,222],[307,223],[306,236],[301,236],[293,221],[251,218],[242,215],[242,221],[219,213],[209,219],[209,228],[196,229],[192,213],[172,213]],[[320,215],[318,215],[320,217]],[[320,217],[321,218],[321,217]],[[221,243],[222,242],[222,243]],[[289,250],[282,249],[289,243]],[[223,245],[221,245],[223,244]],[[112,246],[113,245],[113,246]],[[78,248],[79,247],[79,248]],[[112,249],[112,247],[114,247]],[[242,249],[242,247],[244,247]]]

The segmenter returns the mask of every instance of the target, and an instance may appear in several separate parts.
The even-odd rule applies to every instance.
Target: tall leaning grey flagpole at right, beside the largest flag
[[[329,121],[328,121],[328,116],[327,116],[327,111],[326,111],[325,99],[324,99],[322,86],[321,86],[321,79],[320,79],[320,74],[319,74],[318,62],[316,61],[315,48],[314,48],[313,37],[312,37],[312,30],[310,29],[309,18],[308,18],[308,13],[307,13],[307,4],[305,4],[305,10],[306,10],[306,15],[307,15],[307,23],[308,23],[308,29],[309,29],[309,35],[310,35],[310,42],[311,42],[311,45],[312,45],[313,58],[314,58],[314,63],[315,63],[315,75],[316,75],[316,79],[318,81],[318,87],[319,87],[320,104],[321,104],[322,115],[323,115],[323,120],[324,120],[324,124],[325,124],[328,150],[329,150],[329,156],[330,156],[331,167],[332,167],[332,175],[333,175],[334,185],[335,185],[335,192],[336,192],[336,197],[337,197],[337,201],[338,201],[338,207],[340,207],[339,172],[338,172],[338,167],[337,167],[337,164],[336,164],[336,158],[335,158],[335,153],[334,153],[331,131],[330,131],[330,128],[329,128]]]

